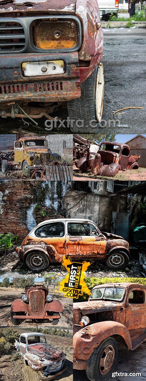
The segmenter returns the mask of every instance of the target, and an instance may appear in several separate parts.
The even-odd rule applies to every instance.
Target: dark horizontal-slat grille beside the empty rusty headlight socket
[[[0,52],[21,51],[25,47],[24,29],[19,22],[0,21]]]

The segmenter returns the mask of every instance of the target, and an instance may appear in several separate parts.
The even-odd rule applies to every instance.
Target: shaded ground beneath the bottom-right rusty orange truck
[[[146,345],[141,344],[135,351],[129,351],[128,347],[118,344],[118,360],[114,372],[141,373],[141,377],[114,376],[109,381],[140,380],[146,381]],[[89,381],[85,370],[74,370],[73,381]]]

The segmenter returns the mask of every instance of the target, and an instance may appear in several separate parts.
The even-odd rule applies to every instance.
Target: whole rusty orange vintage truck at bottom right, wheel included
[[[90,381],[106,381],[117,361],[117,341],[133,351],[146,340],[146,287],[95,286],[87,302],[73,304],[73,328],[73,368],[86,369]]]

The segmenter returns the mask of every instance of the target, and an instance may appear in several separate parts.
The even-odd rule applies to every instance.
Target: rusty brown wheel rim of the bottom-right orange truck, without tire
[[[99,360],[99,371],[102,375],[109,373],[115,358],[115,349],[112,345],[107,345]]]

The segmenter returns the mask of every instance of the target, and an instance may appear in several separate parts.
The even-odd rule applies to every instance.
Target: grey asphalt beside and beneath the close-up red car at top
[[[105,98],[103,119],[106,127],[100,127],[99,133],[146,133],[146,56],[144,44],[146,42],[146,29],[120,28],[104,29],[104,72],[105,72]],[[137,106],[144,109],[127,109],[123,114],[114,115],[115,110],[123,107]],[[58,118],[67,119],[67,110],[57,112]],[[120,126],[114,127],[109,120],[120,120]],[[0,133],[49,133],[45,131],[45,118],[37,120],[39,127],[32,124],[27,127],[19,119],[0,119]],[[105,123],[104,123],[105,125]],[[68,133],[68,128],[60,127],[50,133]]]

